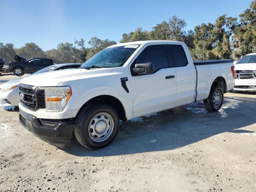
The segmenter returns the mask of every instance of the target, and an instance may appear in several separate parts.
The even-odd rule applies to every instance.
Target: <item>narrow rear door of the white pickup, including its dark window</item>
[[[176,106],[194,102],[196,89],[196,71],[193,61],[187,58],[189,52],[182,44],[167,44],[168,58],[176,70]],[[189,60],[190,59],[190,60]]]

